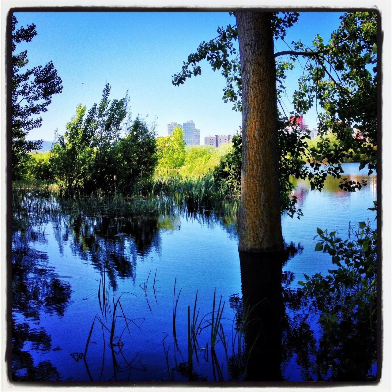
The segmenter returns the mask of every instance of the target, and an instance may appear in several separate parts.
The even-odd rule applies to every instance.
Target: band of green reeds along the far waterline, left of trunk
[[[20,186],[19,186],[20,185]],[[65,215],[115,216],[165,214],[185,212],[209,214],[223,212],[236,214],[239,201],[227,196],[225,184],[219,187],[211,174],[192,179],[156,177],[126,187],[121,182],[113,194],[100,191],[84,195],[77,192],[64,196],[61,190],[31,188],[13,184],[13,227],[27,229],[29,225],[43,227],[49,220],[61,219]]]

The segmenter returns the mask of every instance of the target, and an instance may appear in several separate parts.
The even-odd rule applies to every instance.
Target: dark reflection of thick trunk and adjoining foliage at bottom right
[[[370,319],[350,319],[333,328],[317,324],[322,304],[291,289],[294,274],[282,272],[288,256],[301,246],[286,250],[240,252],[242,301],[252,309],[252,322],[245,326],[245,381],[285,381],[287,376],[292,381],[375,380],[376,331]]]

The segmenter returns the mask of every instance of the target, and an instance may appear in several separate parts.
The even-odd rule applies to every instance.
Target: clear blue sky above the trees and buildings
[[[297,25],[289,29],[286,42],[299,38],[311,45],[316,34],[326,41],[339,25],[335,12],[301,13]],[[53,60],[63,81],[63,92],[53,96],[42,127],[30,132],[29,139],[53,140],[75,113],[78,103],[89,109],[100,101],[106,82],[112,86],[111,98],[122,98],[127,90],[132,117],[137,114],[148,122],[156,118],[156,132],[164,135],[165,124],[194,120],[200,129],[201,144],[209,134],[233,134],[241,125],[241,114],[224,103],[225,80],[207,62],[202,74],[180,87],[171,76],[181,70],[189,53],[203,40],[217,36],[219,26],[235,24],[228,12],[17,12],[18,26],[34,23],[38,35],[20,44],[27,49],[29,66]],[[288,49],[278,40],[276,51]],[[303,63],[303,61],[302,61]],[[296,62],[297,64],[297,62]],[[288,80],[289,98],[299,67]],[[305,116],[310,129],[316,127],[316,112]]]

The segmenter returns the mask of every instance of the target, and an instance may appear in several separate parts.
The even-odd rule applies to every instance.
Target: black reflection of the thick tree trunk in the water
[[[281,380],[285,311],[281,289],[282,256],[240,252],[242,301],[250,313],[245,327],[246,381]]]

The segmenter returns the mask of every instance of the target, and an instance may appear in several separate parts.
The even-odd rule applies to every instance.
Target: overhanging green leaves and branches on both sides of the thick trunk
[[[284,40],[287,28],[297,20],[298,13],[273,14],[273,38]],[[172,82],[180,85],[192,75],[201,74],[198,63],[206,59],[213,70],[222,69],[227,82],[223,95],[225,102],[233,102],[233,109],[241,111],[241,67],[233,45],[238,38],[236,25],[229,25],[226,29],[219,28],[218,34],[213,40],[200,44],[196,53],[189,55],[181,72],[172,76]],[[299,40],[288,45],[290,50],[274,55],[276,93],[282,109],[278,118],[281,149],[279,183],[282,209],[286,209],[289,216],[295,214],[299,218],[302,214],[296,209],[296,197],[291,195],[291,176],[297,179],[308,178],[311,188],[321,191],[330,175],[341,179],[341,189],[355,192],[364,183],[341,178],[341,163],[359,160],[360,169],[367,165],[369,174],[376,169],[376,39],[375,13],[345,13],[341,16],[338,29],[332,32],[328,44],[317,35],[313,48],[305,47]],[[292,126],[292,122],[288,121],[289,115],[281,104],[287,73],[294,68],[298,57],[306,59],[305,70],[299,78],[298,89],[294,92],[294,111],[289,115],[291,118],[303,116],[314,105],[314,100],[317,100],[322,111],[318,116],[320,136],[315,146],[308,143],[308,131]],[[353,128],[359,129],[356,137],[352,135]]]

